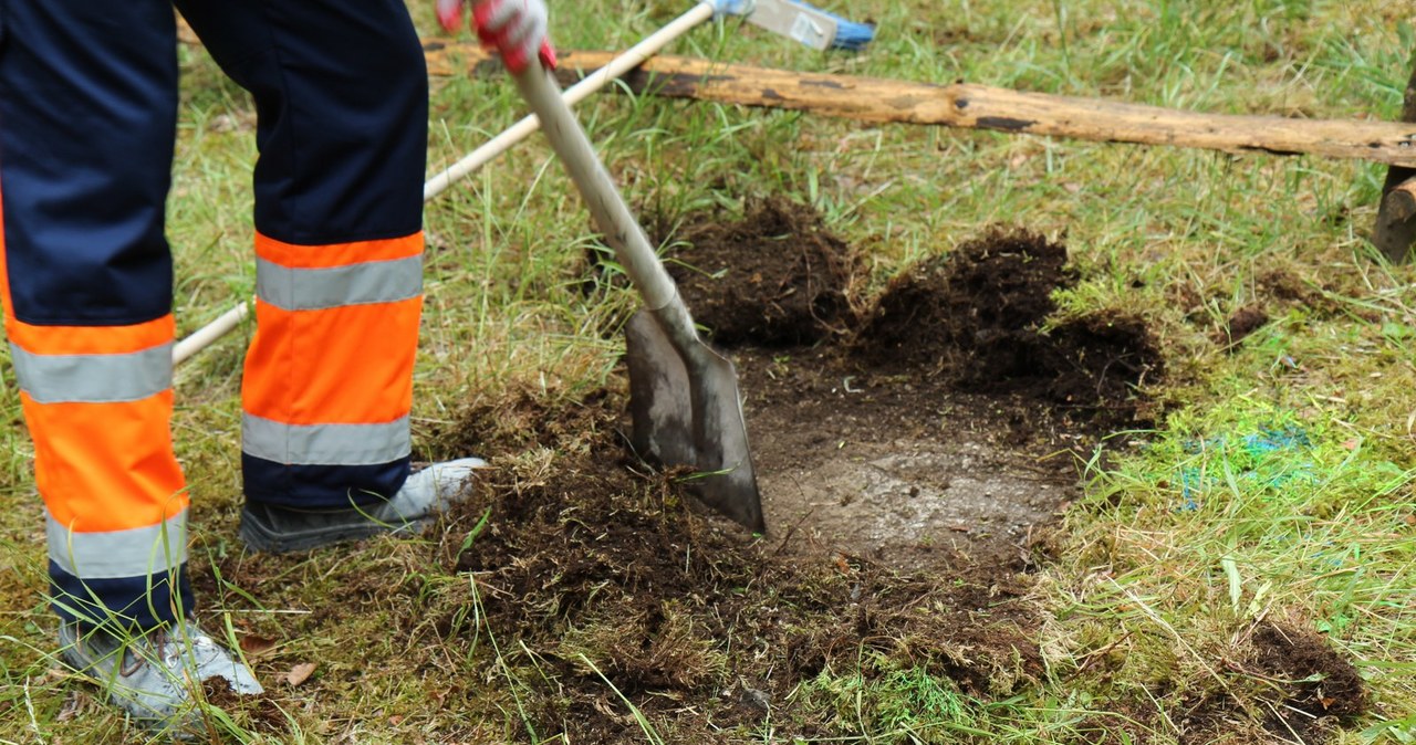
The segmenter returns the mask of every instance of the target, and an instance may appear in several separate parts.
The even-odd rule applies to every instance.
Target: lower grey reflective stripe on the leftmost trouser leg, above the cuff
[[[132,530],[75,533],[47,515],[50,560],[81,580],[146,577],[187,561],[187,510]]]

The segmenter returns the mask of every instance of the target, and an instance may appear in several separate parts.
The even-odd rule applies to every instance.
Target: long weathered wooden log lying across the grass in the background
[[[430,42],[429,72],[455,75],[496,61],[473,44]],[[564,52],[573,82],[615,52]],[[1416,167],[1416,124],[1379,120],[1211,115],[1104,99],[1025,93],[973,83],[933,85],[792,72],[660,55],[624,76],[634,92],[794,109],[874,123],[940,124],[1079,140],[1195,147],[1226,153],[1323,156]]]

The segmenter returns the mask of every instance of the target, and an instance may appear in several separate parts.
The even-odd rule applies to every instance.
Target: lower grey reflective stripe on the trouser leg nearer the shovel
[[[408,417],[387,424],[282,424],[241,416],[241,450],[285,465],[381,465],[413,451]]]

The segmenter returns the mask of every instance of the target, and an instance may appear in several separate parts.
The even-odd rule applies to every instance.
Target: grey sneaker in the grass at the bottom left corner
[[[180,739],[198,734],[201,712],[193,690],[202,681],[222,679],[241,696],[265,693],[251,670],[193,621],[127,639],[64,623],[59,656],[135,720]]]

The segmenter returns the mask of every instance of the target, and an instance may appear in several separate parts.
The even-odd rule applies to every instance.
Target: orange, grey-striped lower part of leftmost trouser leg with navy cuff
[[[188,500],[170,424],[171,315],[127,327],[40,327],[14,318],[4,290],[55,606],[95,622],[178,614],[133,599],[181,605],[190,594],[160,591],[187,561]]]

